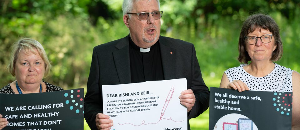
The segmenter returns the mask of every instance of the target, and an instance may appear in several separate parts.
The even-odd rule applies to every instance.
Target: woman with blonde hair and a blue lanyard
[[[63,88],[42,79],[49,75],[51,64],[41,43],[22,38],[14,43],[8,70],[16,80],[0,89],[0,93],[23,94],[60,91]],[[0,114],[0,130],[8,121]]]

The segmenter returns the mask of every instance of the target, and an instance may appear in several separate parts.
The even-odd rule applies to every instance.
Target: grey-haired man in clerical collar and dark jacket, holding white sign
[[[113,120],[103,114],[102,85],[139,83],[151,80],[187,79],[180,103],[187,118],[196,118],[209,106],[194,45],[160,36],[159,0],[124,0],[123,21],[129,35],[94,47],[84,118],[92,130],[106,130]],[[188,129],[189,122],[188,122]]]

